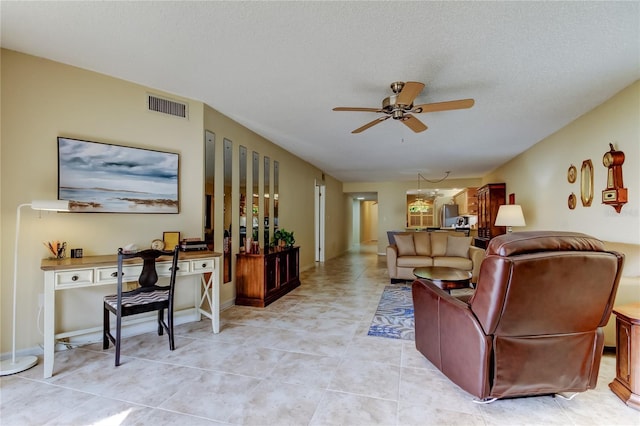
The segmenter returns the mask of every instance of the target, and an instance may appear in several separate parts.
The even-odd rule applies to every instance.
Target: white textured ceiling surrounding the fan
[[[638,2],[0,7],[2,47],[201,100],[345,182],[480,177],[640,78]],[[378,107],[394,81],[476,103],[418,115],[419,134],[353,135],[377,115],[331,110]]]

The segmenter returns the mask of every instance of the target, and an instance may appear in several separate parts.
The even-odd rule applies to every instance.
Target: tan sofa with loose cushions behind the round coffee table
[[[413,281],[413,269],[448,266],[471,271],[471,282],[478,278],[484,249],[471,245],[472,238],[455,231],[411,231],[395,233],[387,246],[387,271],[391,282]]]

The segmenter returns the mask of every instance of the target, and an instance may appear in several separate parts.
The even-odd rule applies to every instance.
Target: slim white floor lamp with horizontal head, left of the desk
[[[30,206],[33,210],[69,211],[69,201],[64,200],[34,200],[31,203],[20,204],[16,212],[16,242],[13,252],[13,321],[11,337],[11,359],[0,362],[0,376],[15,374],[27,370],[38,363],[38,357],[29,355],[16,358],[16,304],[18,289],[18,241],[20,239],[20,209]]]

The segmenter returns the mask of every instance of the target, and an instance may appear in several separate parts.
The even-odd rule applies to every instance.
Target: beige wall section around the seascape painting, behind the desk
[[[38,294],[43,292],[40,260],[47,256],[42,241],[67,241],[69,247],[95,255],[115,253],[128,243],[148,247],[163,231],[200,235],[203,106],[188,101],[189,120],[148,112],[147,91],[108,76],[2,51],[2,352],[11,347],[15,210],[34,199],[57,199],[57,136],[179,153],[181,211],[129,215],[22,209],[17,348],[42,341],[36,327]],[[62,327],[100,324],[96,291],[62,291],[58,296]]]

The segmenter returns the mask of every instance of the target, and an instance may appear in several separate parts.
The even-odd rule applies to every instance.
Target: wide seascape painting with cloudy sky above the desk
[[[58,138],[58,199],[73,212],[178,213],[179,155]]]

